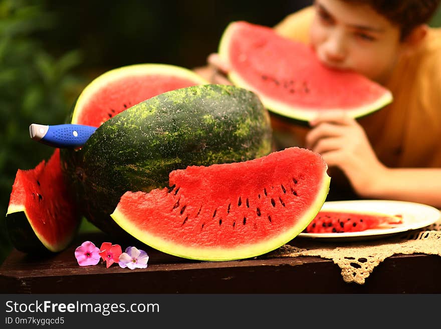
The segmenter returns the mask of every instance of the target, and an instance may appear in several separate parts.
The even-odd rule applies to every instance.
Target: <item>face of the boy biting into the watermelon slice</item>
[[[384,84],[403,47],[399,28],[368,5],[316,0],[315,9],[310,40],[320,61]]]

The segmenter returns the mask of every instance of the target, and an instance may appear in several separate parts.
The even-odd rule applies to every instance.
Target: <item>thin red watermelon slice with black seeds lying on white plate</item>
[[[373,228],[393,227],[402,223],[401,215],[319,211],[305,229],[307,233],[359,232]]]

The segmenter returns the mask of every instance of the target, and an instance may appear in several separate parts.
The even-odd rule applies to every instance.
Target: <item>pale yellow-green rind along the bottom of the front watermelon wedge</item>
[[[121,228],[123,228],[133,237],[159,251],[174,256],[208,261],[227,261],[251,258],[270,252],[286,244],[299,235],[308,226],[311,220],[320,211],[329,192],[331,178],[328,176],[326,171],[323,173],[322,177],[321,186],[315,200],[305,211],[303,216],[299,218],[296,225],[294,225],[290,230],[282,232],[277,237],[268,241],[258,244],[251,244],[249,246],[240,246],[239,248],[194,248],[187,247],[182,244],[175,244],[170,240],[158,238],[153,234],[139,230],[136,225],[128,220],[126,216],[124,216],[124,214],[119,210],[120,205],[115,208],[115,211],[110,216],[119,226],[121,226]]]

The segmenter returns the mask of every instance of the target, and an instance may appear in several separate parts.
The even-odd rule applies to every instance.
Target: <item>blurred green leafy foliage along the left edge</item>
[[[0,2],[0,262],[11,248],[4,217],[17,169],[34,168],[53,152],[30,140],[29,125],[63,123],[85,84],[72,74],[79,51],[54,57],[33,37],[55,23],[40,2]]]

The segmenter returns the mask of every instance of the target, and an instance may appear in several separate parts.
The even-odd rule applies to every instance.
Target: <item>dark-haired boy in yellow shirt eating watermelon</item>
[[[316,0],[275,27],[309,43],[325,65],[361,73],[394,96],[392,104],[358,122],[327,112],[307,129],[272,117],[275,131],[289,132],[327,162],[328,200],[351,198],[346,192],[352,189],[361,198],[441,208],[441,29],[425,25],[438,4]],[[216,55],[208,62],[228,72]]]

